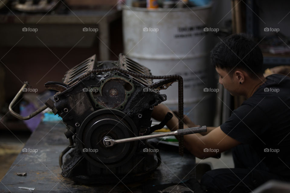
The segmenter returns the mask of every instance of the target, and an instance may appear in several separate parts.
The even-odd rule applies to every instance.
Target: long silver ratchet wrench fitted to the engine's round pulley
[[[178,129],[176,131],[170,131],[170,132],[164,132],[164,133],[158,133],[158,134],[152,134],[152,135],[144,135],[144,136],[133,137],[133,138],[118,139],[118,140],[114,140],[111,137],[106,136],[103,139],[103,144],[106,147],[110,147],[110,146],[113,146],[114,144],[124,143],[124,142],[129,142],[129,141],[152,139],[152,138],[166,137],[166,136],[172,136],[172,135],[183,136],[183,135],[201,133],[201,132],[206,132],[206,131],[207,131],[206,126],[202,126],[202,127]]]

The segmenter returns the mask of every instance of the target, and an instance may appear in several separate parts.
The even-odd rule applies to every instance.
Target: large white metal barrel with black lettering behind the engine
[[[192,8],[123,7],[124,52],[151,70],[152,75],[183,78],[184,113],[200,125],[211,124],[213,100],[209,78],[209,37],[205,27],[211,5]],[[158,80],[155,80],[158,81]],[[178,83],[160,93],[177,109]]]

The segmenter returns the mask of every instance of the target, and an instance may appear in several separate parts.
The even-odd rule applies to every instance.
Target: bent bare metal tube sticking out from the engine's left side
[[[22,94],[23,89],[26,88],[28,85],[29,85],[28,82],[24,82],[23,86],[22,86],[21,89],[18,91],[18,93],[16,94],[16,96],[15,96],[14,99],[11,101],[11,103],[9,104],[9,107],[8,107],[10,113],[11,113],[14,117],[16,117],[16,118],[18,118],[18,119],[22,119],[22,120],[31,119],[32,117],[34,117],[35,115],[39,114],[40,112],[42,112],[44,109],[47,108],[47,106],[44,105],[44,106],[40,107],[39,109],[37,109],[36,111],[34,111],[33,113],[31,113],[30,115],[26,116],[26,117],[21,116],[21,115],[19,115],[18,113],[14,112],[14,111],[12,110],[12,106],[13,106],[14,103],[17,101],[17,99],[19,98],[19,96]]]

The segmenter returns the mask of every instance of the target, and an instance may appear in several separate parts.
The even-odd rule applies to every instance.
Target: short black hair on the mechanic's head
[[[242,60],[242,61],[241,61]],[[259,46],[246,34],[227,36],[211,50],[211,64],[229,72],[246,71],[253,79],[263,74],[263,55]]]

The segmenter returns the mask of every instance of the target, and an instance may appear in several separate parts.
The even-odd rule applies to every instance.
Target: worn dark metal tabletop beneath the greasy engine
[[[180,157],[178,150],[159,149],[161,165],[142,182],[111,185],[82,185],[61,176],[58,157],[69,144],[63,134],[66,128],[63,123],[40,123],[31,134],[24,150],[11,165],[0,182],[0,192],[142,192],[144,186],[179,183],[195,177],[195,157],[184,154]],[[26,149],[25,149],[26,148]],[[158,147],[159,148],[159,147]],[[37,150],[37,152],[36,152]],[[27,176],[18,176],[26,172]],[[34,191],[18,187],[35,188]]]

